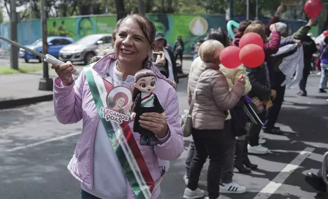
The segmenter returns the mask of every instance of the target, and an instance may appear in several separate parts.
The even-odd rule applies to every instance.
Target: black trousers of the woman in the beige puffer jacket
[[[207,192],[210,199],[216,199],[219,193],[222,165],[224,163],[225,153],[228,152],[225,143],[223,130],[212,129],[192,129],[192,135],[195,144],[195,154],[189,168],[189,180],[187,187],[196,190],[198,187],[199,176],[203,165],[209,157],[209,166],[207,171]]]

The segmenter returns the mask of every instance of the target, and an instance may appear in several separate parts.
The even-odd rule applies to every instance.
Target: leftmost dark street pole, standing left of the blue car
[[[17,42],[16,1],[10,0],[10,39]],[[10,68],[18,69],[18,47],[10,45]]]

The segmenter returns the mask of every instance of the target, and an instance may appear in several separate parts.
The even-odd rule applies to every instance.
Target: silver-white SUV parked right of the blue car
[[[59,59],[66,62],[84,61],[88,64],[90,59],[97,55],[96,49],[100,45],[112,44],[112,34],[93,34],[63,47],[59,51]]]

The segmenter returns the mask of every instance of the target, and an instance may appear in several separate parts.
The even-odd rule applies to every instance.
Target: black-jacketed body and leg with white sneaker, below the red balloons
[[[269,71],[264,62],[257,68],[246,67],[247,76],[252,85],[251,91],[248,93],[250,98],[257,97],[263,103],[264,110],[258,114],[259,118],[264,121],[265,109],[272,103],[270,97],[276,96],[276,91],[271,89],[269,80]],[[262,128],[261,124],[249,123],[249,144],[248,152],[251,154],[267,154],[268,149],[259,144],[259,135]]]

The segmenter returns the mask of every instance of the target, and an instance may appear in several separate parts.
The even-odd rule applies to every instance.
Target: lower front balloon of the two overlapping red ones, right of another
[[[264,62],[264,50],[256,44],[244,46],[239,53],[241,62],[249,68],[259,67]]]

